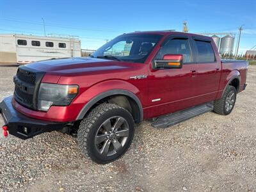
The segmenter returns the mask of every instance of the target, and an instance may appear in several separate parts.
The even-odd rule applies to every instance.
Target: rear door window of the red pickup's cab
[[[213,63],[215,62],[215,55],[212,49],[211,42],[204,42],[200,40],[195,40],[195,45],[197,49],[196,61],[199,63]]]

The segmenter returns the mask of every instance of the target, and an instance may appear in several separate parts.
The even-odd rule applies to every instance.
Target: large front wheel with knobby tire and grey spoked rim
[[[116,104],[104,103],[81,121],[77,142],[82,152],[95,163],[107,164],[125,154],[133,136],[131,113]]]

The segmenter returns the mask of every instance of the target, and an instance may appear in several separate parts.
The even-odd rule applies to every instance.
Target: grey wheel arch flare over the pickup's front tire
[[[140,99],[138,99],[138,97],[134,93],[128,90],[120,90],[120,89],[108,90],[90,99],[81,109],[81,111],[77,115],[76,120],[82,120],[84,116],[90,111],[90,109],[92,109],[93,106],[97,104],[97,102],[100,102],[100,100],[104,100],[104,99],[108,99],[109,97],[116,97],[116,96],[124,96],[131,101],[131,108],[134,108],[135,110],[135,112],[132,114],[132,116],[134,117],[134,122],[139,123],[143,120],[143,108],[142,108]]]

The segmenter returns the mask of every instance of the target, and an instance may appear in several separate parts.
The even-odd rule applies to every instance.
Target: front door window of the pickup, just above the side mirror
[[[163,60],[165,54],[182,54],[183,63],[191,63],[191,49],[187,39],[174,38],[168,41],[157,53],[156,60]]]

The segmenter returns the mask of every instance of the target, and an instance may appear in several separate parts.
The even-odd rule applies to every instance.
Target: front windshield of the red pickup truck
[[[93,52],[93,58],[144,63],[162,35],[121,35]]]

